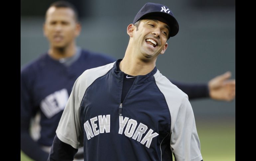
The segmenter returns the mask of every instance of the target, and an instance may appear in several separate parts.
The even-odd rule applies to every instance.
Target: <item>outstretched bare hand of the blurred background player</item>
[[[231,72],[216,76],[208,82],[209,96],[219,101],[232,101],[235,98],[235,79],[229,80]]]

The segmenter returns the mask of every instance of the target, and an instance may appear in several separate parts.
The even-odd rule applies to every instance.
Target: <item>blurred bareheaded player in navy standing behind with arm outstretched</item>
[[[76,46],[80,34],[77,11],[67,2],[56,2],[46,13],[44,33],[50,49],[21,71],[21,149],[35,160],[46,160],[55,130],[76,78],[86,69],[115,61]],[[235,97],[235,81],[230,72],[215,77],[208,84],[183,84],[172,81],[190,99],[212,98],[230,101]],[[36,115],[39,114],[39,115]],[[35,142],[30,121],[40,121],[40,135]],[[33,149],[33,150],[32,150]],[[76,158],[79,158],[79,152]],[[82,156],[80,157],[82,158]]]

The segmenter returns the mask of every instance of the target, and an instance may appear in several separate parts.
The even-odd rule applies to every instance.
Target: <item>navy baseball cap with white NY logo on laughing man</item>
[[[167,25],[170,27],[168,39],[174,37],[179,32],[179,24],[172,11],[167,6],[157,3],[146,3],[135,16],[133,24],[149,16],[159,16],[166,20]]]

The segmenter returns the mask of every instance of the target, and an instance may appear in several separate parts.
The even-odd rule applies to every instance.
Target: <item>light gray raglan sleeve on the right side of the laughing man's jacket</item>
[[[200,142],[188,95],[159,71],[155,81],[163,93],[171,115],[171,150],[177,161],[201,161]]]

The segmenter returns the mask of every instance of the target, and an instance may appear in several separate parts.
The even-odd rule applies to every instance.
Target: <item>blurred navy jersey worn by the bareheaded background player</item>
[[[25,66],[21,70],[21,132],[28,131],[31,118],[39,111],[41,131],[37,142],[51,146],[75,80],[86,69],[114,61],[105,55],[79,50],[72,58],[60,60],[45,53]]]

